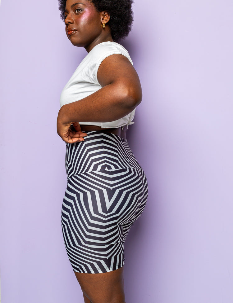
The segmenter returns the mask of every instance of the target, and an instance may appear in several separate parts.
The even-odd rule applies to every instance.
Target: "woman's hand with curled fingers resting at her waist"
[[[73,124],[74,130],[71,129],[71,124]],[[57,116],[57,134],[66,143],[81,142],[84,141],[83,137],[87,136],[82,132],[79,122],[65,123],[59,114]]]

